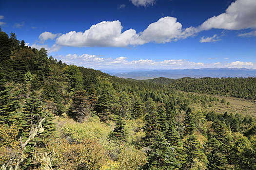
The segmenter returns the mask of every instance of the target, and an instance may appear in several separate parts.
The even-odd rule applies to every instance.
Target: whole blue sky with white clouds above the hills
[[[255,68],[256,0],[0,0],[2,31],[95,69]]]

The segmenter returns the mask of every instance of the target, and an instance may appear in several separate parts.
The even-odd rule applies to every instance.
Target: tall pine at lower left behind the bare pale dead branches
[[[45,147],[47,140],[49,141],[53,137],[55,127],[52,122],[52,115],[45,111],[43,103],[38,99],[35,92],[29,94],[22,108],[23,111],[19,112],[16,116],[16,121],[20,125],[19,136],[21,137],[22,142],[27,140],[31,129],[39,126],[39,120],[43,119],[47,115],[42,124],[44,131],[36,136],[33,140],[29,141],[25,147],[24,153],[27,154],[27,156],[24,158],[20,167],[26,170],[38,168],[40,166],[36,163],[32,164],[33,152],[35,151],[35,147]]]

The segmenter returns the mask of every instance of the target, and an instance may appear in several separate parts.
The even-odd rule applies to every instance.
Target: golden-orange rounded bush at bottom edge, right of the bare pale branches
[[[52,163],[61,170],[98,170],[108,159],[105,149],[90,139],[72,144],[60,140],[54,148],[58,156]]]

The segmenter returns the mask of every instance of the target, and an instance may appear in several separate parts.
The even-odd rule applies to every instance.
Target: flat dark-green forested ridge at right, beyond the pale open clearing
[[[170,88],[219,96],[256,100],[256,77],[247,78],[181,78],[173,81]]]

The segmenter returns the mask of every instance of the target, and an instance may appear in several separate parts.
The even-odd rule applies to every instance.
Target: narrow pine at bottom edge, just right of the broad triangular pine
[[[186,162],[182,165],[182,169],[206,169],[207,158],[203,152],[202,145],[197,140],[196,135],[187,136],[184,141],[184,152]]]

